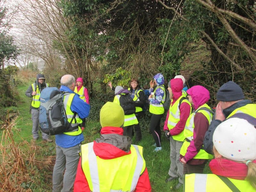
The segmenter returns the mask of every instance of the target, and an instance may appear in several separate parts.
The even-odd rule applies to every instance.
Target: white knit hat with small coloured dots
[[[229,118],[213,133],[213,145],[220,155],[234,160],[256,159],[256,128],[245,119]]]

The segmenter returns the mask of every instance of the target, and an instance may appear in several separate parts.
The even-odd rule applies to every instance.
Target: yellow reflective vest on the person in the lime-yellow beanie
[[[93,151],[93,142],[81,146],[82,169],[91,191],[134,191],[146,168],[142,147],[131,145],[131,154],[102,159]]]

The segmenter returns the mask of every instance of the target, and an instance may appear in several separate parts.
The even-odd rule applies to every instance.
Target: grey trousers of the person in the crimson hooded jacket
[[[171,177],[179,177],[179,182],[183,184],[183,164],[180,162],[180,148],[182,141],[177,141],[170,137],[170,159],[171,165],[168,174]]]

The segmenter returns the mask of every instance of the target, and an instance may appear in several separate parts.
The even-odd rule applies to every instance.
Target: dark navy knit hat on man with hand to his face
[[[244,99],[241,87],[233,81],[223,84],[217,92],[216,99],[219,101],[237,101]]]

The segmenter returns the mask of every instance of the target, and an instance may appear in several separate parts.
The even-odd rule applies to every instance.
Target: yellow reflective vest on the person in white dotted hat
[[[256,191],[247,180],[235,180],[228,178],[240,191]],[[184,177],[185,192],[216,192],[232,190],[217,175],[214,174],[186,174]]]

